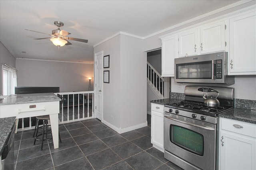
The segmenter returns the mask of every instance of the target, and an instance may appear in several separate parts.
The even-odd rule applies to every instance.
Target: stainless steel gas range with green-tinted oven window
[[[206,92],[219,95],[220,106],[205,106]],[[165,104],[164,157],[185,170],[215,170],[218,114],[234,106],[233,94],[234,88],[186,86],[185,100]]]

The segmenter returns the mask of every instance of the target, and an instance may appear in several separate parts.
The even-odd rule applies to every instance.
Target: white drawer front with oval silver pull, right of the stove
[[[220,118],[221,129],[256,138],[256,125],[243,121]]]

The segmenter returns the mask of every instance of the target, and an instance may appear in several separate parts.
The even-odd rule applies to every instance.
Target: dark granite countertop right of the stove
[[[233,108],[220,113],[219,117],[256,124],[256,110],[253,109]]]

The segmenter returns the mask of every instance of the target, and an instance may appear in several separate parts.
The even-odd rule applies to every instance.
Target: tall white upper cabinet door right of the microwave
[[[230,53],[228,75],[256,74],[256,12],[229,20]]]

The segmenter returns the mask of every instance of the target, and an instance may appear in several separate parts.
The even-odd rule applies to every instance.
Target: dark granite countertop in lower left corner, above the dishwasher
[[[14,125],[16,117],[0,118],[0,149],[3,151],[6,139],[10,136],[12,126]],[[14,127],[15,128],[15,127]],[[1,155],[0,154],[0,155]]]

